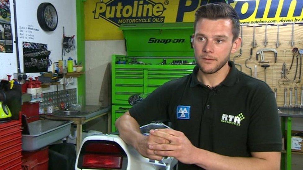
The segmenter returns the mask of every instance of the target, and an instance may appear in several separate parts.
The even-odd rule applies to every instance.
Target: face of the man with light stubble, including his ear
[[[239,38],[233,42],[232,29],[233,23],[229,19],[198,20],[193,46],[201,72],[212,74],[227,64],[239,43]]]

